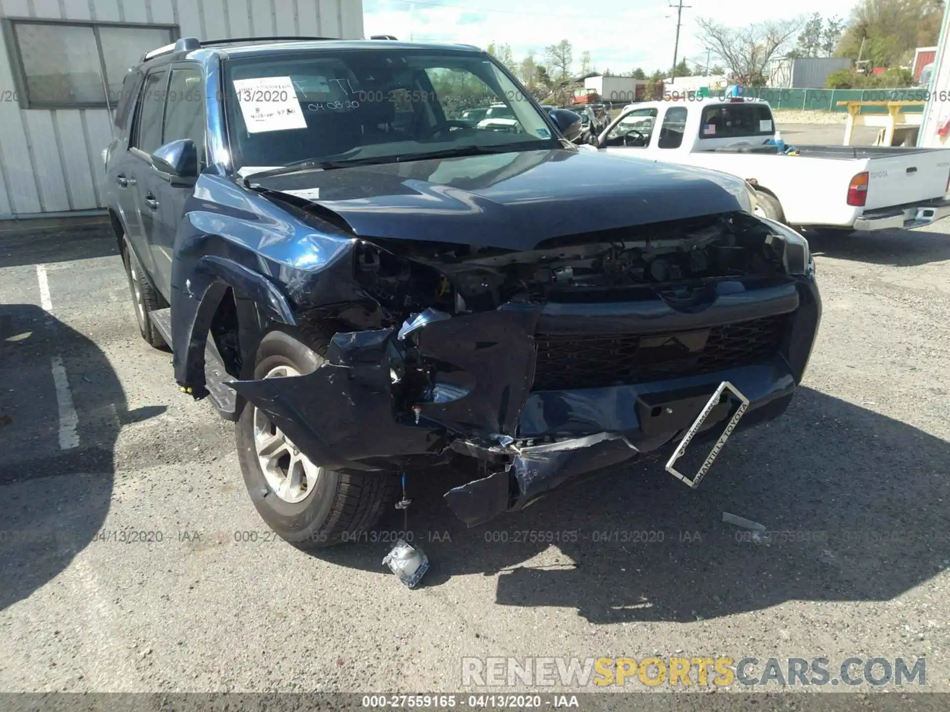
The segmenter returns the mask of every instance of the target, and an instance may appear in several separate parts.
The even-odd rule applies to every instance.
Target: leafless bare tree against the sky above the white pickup
[[[744,85],[765,84],[769,61],[802,26],[801,19],[773,20],[743,28],[729,28],[712,18],[696,18],[702,30],[697,39],[726,63],[735,81]]]

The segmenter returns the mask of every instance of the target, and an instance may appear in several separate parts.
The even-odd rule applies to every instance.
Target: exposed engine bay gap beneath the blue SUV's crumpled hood
[[[676,293],[711,280],[773,278],[803,273],[806,259],[767,223],[734,213],[570,235],[528,252],[373,239],[357,248],[355,271],[393,326],[424,309],[619,301],[636,298],[637,288]]]

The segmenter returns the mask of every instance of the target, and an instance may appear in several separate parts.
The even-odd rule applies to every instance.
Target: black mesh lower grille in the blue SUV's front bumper
[[[692,376],[778,352],[786,315],[659,334],[538,334],[534,390],[573,390]]]

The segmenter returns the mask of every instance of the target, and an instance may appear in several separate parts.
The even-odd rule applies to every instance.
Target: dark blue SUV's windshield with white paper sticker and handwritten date
[[[359,49],[230,59],[224,103],[242,175],[307,159],[385,162],[473,146],[558,145],[521,87],[474,52]],[[514,120],[506,130],[472,122],[489,104],[485,118]]]

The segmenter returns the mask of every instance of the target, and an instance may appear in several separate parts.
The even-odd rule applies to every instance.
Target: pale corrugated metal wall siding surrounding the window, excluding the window
[[[168,23],[213,39],[363,36],[362,0],[0,0],[0,17]],[[0,218],[101,207],[108,112],[20,109],[14,86],[0,33]]]

